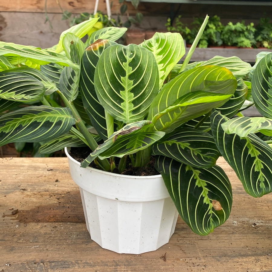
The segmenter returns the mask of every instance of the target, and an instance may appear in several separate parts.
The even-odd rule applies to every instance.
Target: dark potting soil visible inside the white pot
[[[86,157],[88,157],[88,155],[90,153],[91,153],[91,150],[88,147],[76,147],[76,148],[71,147],[71,150],[70,150],[70,155],[78,162],[82,162]],[[118,173],[118,159],[119,158],[115,158],[116,168],[113,171],[114,173]],[[133,167],[131,165],[129,158],[128,158],[127,167],[126,167],[125,171],[123,171],[122,173],[118,173],[118,174],[131,175],[131,176],[158,175],[160,173],[154,168],[154,164],[155,164],[155,159],[154,159],[154,157],[151,157],[150,162],[148,164],[144,165],[143,167]],[[90,164],[90,166],[92,168],[99,169],[94,162],[92,162]]]

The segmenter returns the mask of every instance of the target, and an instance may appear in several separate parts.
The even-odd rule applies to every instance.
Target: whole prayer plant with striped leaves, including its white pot
[[[271,64],[271,54],[254,67],[220,56],[189,64],[206,17],[179,65],[180,34],[156,33],[123,46],[114,41],[126,29],[109,27],[84,44],[80,38],[96,21],[64,31],[47,50],[0,42],[0,145],[67,147],[94,241],[119,253],[155,250],[169,241],[178,213],[195,233],[212,232],[232,206],[231,183],[216,165],[220,155],[248,194],[271,192],[272,149],[251,133],[271,133],[271,109],[258,94],[269,97],[271,65],[262,62]],[[245,83],[248,73],[252,82]],[[251,100],[250,88],[266,118],[253,121],[250,134],[228,131],[224,123]],[[52,101],[53,93],[64,106]],[[251,121],[236,122],[240,133]],[[79,147],[89,149],[82,162],[69,152]],[[144,166],[151,175],[132,174]]]

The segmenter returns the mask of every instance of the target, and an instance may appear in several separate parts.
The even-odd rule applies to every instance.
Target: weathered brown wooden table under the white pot
[[[233,186],[227,222],[202,237],[179,218],[167,245],[132,255],[90,239],[66,158],[0,158],[0,271],[272,271],[272,194],[249,197],[219,165]]]

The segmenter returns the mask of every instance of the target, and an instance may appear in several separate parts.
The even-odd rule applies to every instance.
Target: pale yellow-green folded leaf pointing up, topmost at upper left
[[[57,44],[56,52],[60,53],[63,50],[62,41],[65,34],[72,33],[81,39],[92,29],[92,27],[96,24],[98,19],[99,18],[89,18],[89,20],[83,21],[82,23],[76,24],[70,27],[69,29],[63,31],[60,34],[60,40],[59,40],[59,43]]]

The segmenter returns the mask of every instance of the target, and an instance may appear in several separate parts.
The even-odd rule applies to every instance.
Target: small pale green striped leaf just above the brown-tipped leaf
[[[116,41],[121,38],[126,31],[126,27],[103,27],[90,35],[86,41],[86,46],[89,46],[90,44],[100,39]]]

